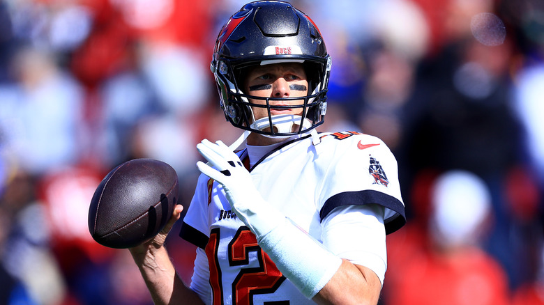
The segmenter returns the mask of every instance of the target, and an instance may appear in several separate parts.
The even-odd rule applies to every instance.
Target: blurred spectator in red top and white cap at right
[[[473,188],[481,184],[483,188]],[[508,278],[503,267],[488,253],[479,248],[481,233],[487,232],[489,207],[483,180],[466,171],[448,171],[436,175],[422,171],[413,185],[414,219],[405,228],[388,236],[388,275],[384,284],[385,304],[391,305],[507,305],[510,304]],[[478,196],[481,191],[481,196]],[[459,193],[464,197],[457,197]],[[440,196],[437,196],[440,195]],[[478,197],[481,197],[478,199]],[[456,198],[453,202],[444,198]],[[471,200],[474,200],[471,201]],[[479,203],[478,203],[479,201]],[[470,208],[467,205],[470,203]],[[474,203],[474,204],[472,204]],[[458,208],[461,215],[478,214],[477,221],[464,225],[468,230],[461,242],[457,235],[436,235],[437,219],[458,227],[455,217],[436,217],[439,208],[449,205]],[[481,209],[477,208],[481,205]],[[458,215],[451,215],[458,216]],[[450,221],[451,220],[451,221]],[[480,228],[483,228],[481,230]],[[464,228],[461,228],[461,232]],[[447,232],[447,231],[444,231]],[[456,232],[457,233],[457,232]],[[437,238],[441,237],[441,238]],[[474,240],[470,240],[474,237]]]

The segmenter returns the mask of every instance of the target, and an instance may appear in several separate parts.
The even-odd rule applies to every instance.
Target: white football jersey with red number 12
[[[375,136],[319,136],[317,145],[308,135],[264,155],[250,169],[255,187],[324,247],[369,267],[383,283],[385,235],[405,224],[396,159]],[[237,154],[249,167],[247,150]],[[282,276],[231,210],[222,186],[206,175],[180,236],[198,247],[191,288],[206,304],[313,304]]]

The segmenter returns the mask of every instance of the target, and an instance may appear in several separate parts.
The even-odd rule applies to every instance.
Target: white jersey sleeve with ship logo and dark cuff
[[[319,195],[321,219],[343,205],[377,204],[384,207],[386,234],[402,227],[406,217],[398,164],[386,144],[367,134],[326,141],[336,141],[336,145],[324,170]]]

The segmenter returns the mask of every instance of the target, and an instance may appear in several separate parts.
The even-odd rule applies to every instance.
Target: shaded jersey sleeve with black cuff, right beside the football
[[[183,224],[179,236],[184,240],[204,249],[209,240],[209,184],[213,182],[206,175],[201,174],[198,178],[195,194],[192,196],[186,215],[183,217]]]

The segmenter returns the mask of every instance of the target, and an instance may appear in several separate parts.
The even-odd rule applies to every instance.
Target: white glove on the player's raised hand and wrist
[[[285,220],[282,213],[264,201],[249,171],[225,143],[204,139],[197,144],[197,150],[213,165],[197,162],[199,171],[223,186],[232,210],[257,235],[257,240]]]

